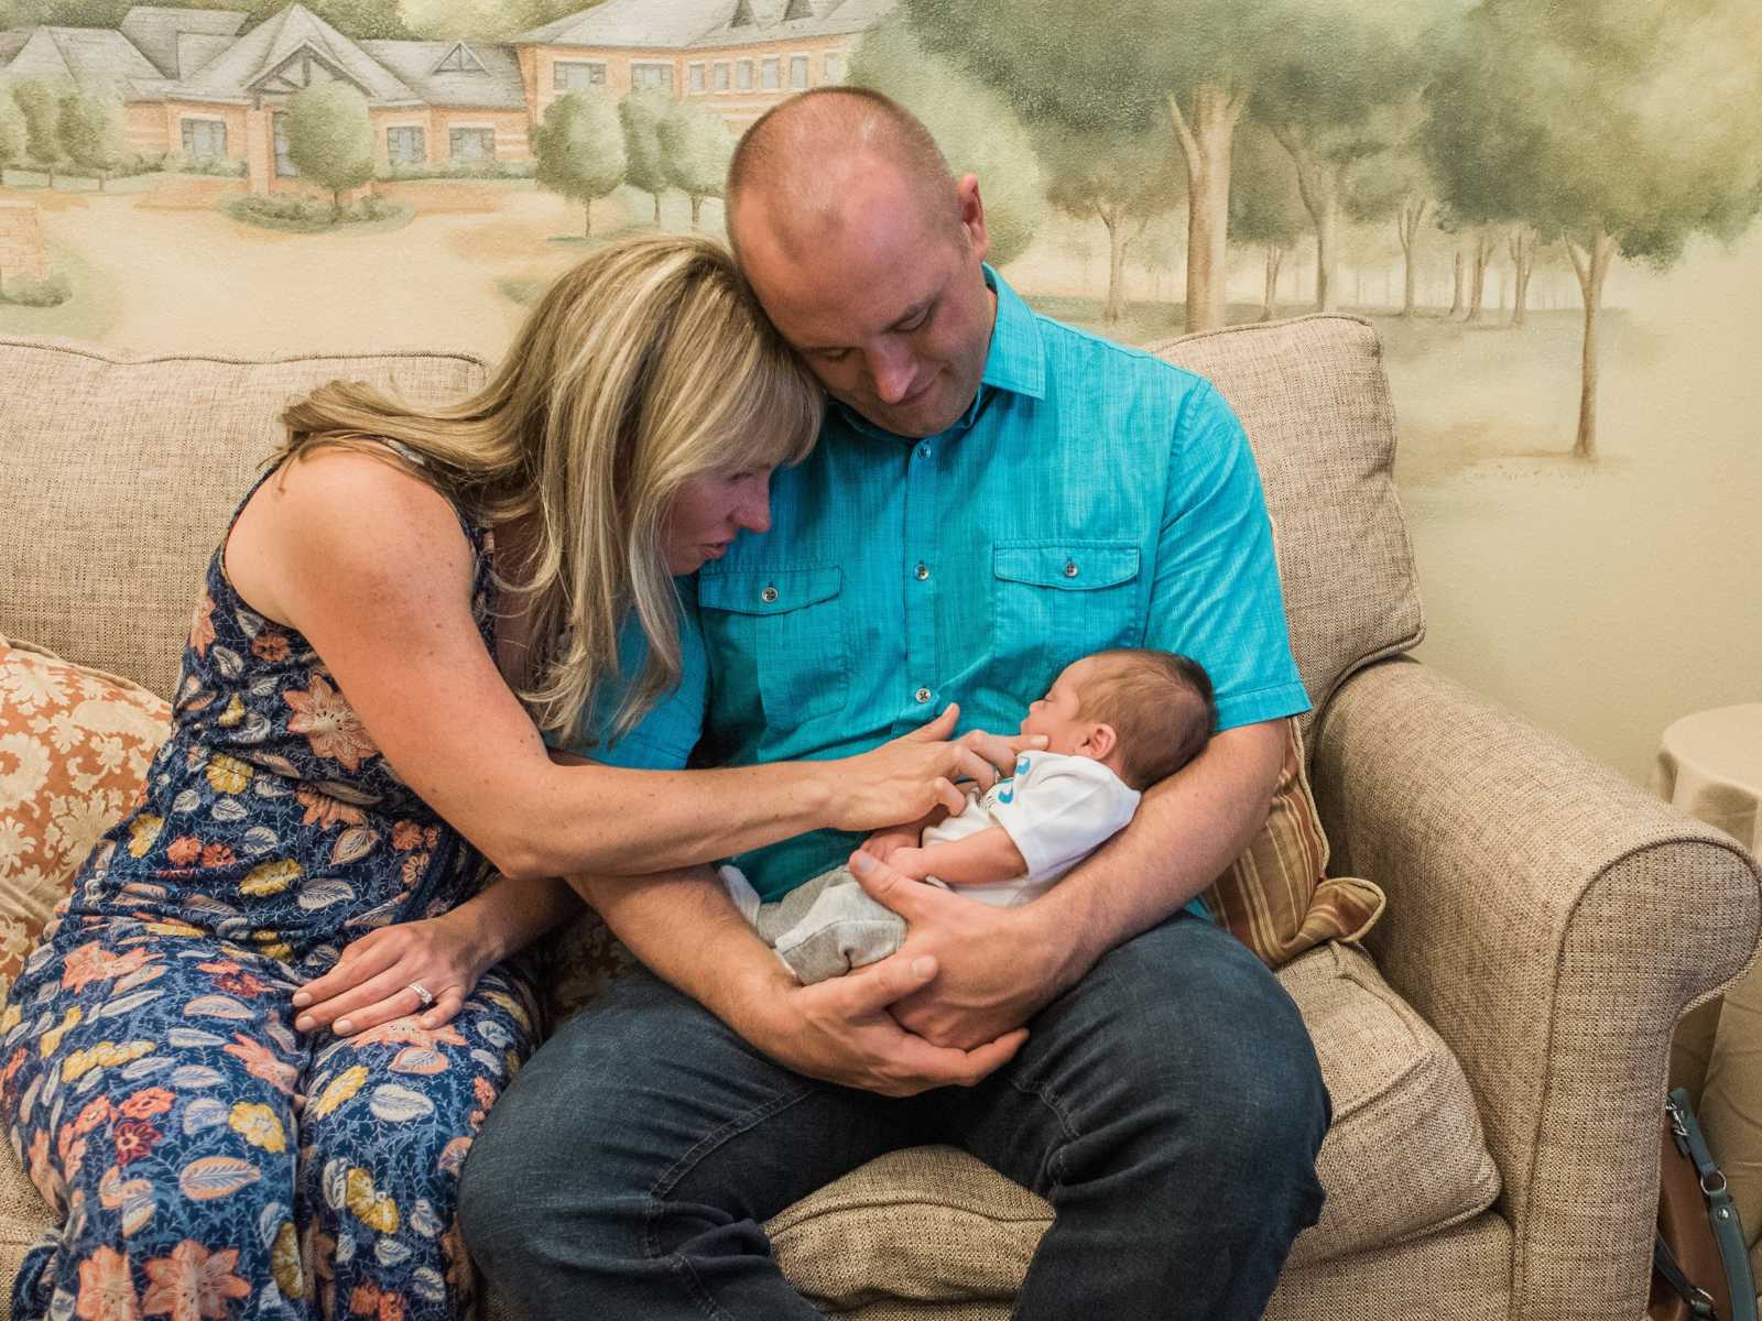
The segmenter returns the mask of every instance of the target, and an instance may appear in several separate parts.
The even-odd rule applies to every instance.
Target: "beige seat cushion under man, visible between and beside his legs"
[[[1329,1199],[1288,1265],[1387,1247],[1473,1219],[1499,1178],[1461,1066],[1378,976],[1329,944],[1288,963],[1334,1097],[1318,1170]],[[1052,1208],[951,1147],[893,1152],[803,1198],[766,1229],[809,1296],[1008,1298]],[[959,1226],[959,1233],[951,1228]]]

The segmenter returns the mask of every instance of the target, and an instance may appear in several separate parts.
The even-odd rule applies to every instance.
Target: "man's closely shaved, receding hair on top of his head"
[[[960,227],[960,204],[953,171],[936,137],[909,109],[892,97],[863,86],[825,86],[802,92],[765,111],[740,136],[735,155],[728,162],[728,185],[722,197],[729,215],[740,192],[766,178],[786,180],[793,204],[814,206],[816,176],[803,173],[798,134],[791,125],[807,120],[837,129],[840,150],[872,151],[899,166],[918,204],[932,217],[941,217],[951,231]],[[735,227],[728,229],[729,243],[738,252]]]

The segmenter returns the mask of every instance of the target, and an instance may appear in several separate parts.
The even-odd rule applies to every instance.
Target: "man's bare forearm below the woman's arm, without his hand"
[[[571,877],[569,884],[663,981],[677,986],[747,1041],[788,969],[735,911],[708,867],[655,875]]]

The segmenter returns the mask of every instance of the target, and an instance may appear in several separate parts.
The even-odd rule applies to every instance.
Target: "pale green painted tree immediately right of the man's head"
[[[897,14],[863,33],[844,81],[893,97],[923,120],[957,180],[978,176],[994,266],[1027,252],[1047,213],[1040,157],[997,92],[929,53]]]

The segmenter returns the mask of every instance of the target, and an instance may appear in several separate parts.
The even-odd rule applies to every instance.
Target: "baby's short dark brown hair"
[[[1126,784],[1149,789],[1205,750],[1218,727],[1205,666],[1152,648],[1096,652],[1089,659],[1094,673],[1077,697],[1077,717],[1114,726]]]

